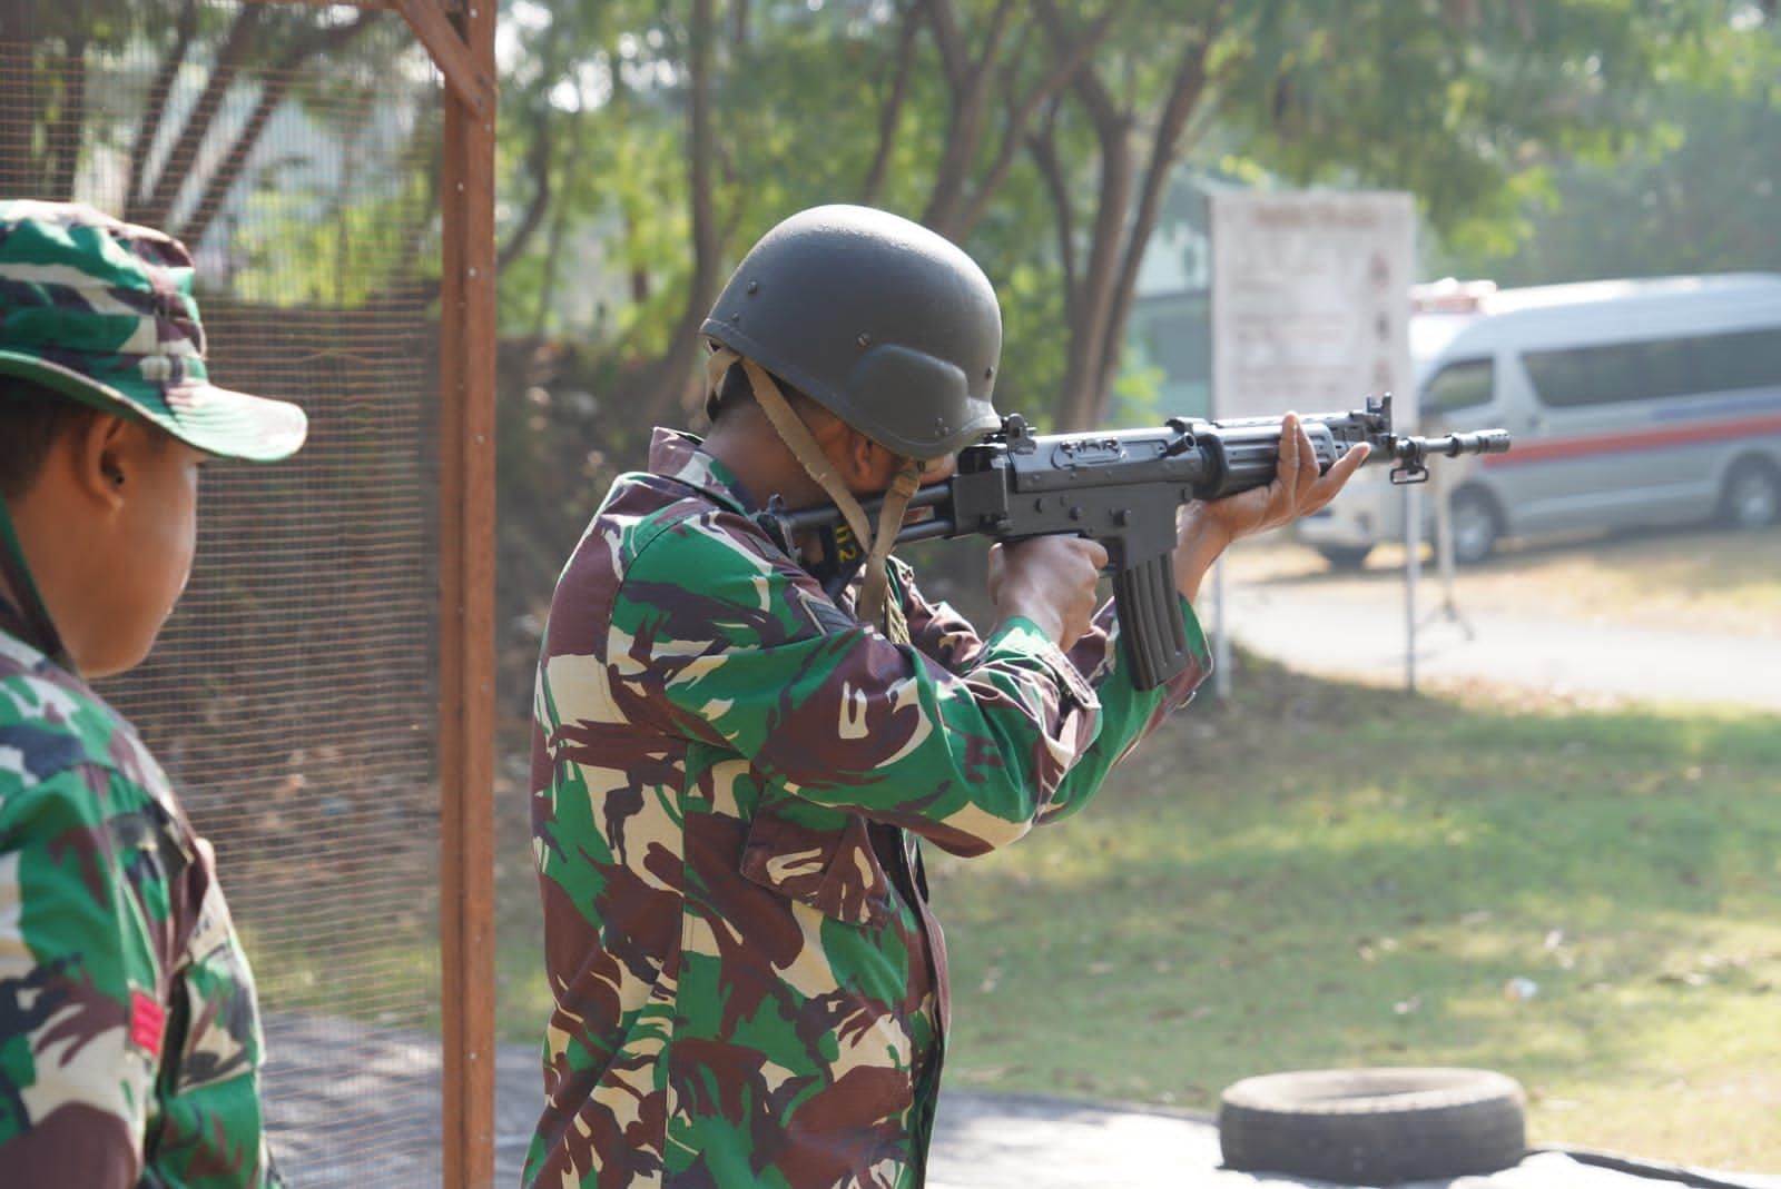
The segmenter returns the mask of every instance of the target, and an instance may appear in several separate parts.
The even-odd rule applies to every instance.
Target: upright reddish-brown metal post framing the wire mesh
[[[445,82],[440,169],[440,1075],[443,1189],[495,1180],[495,0],[394,11]]]

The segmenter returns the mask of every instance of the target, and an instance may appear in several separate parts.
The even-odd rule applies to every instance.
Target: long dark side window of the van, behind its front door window
[[[1528,351],[1521,363],[1551,408],[1767,388],[1781,384],[1781,328]]]

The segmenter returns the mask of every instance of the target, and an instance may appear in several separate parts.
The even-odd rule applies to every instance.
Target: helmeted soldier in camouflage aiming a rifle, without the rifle
[[[1359,459],[1318,479],[1288,425],[1270,488],[1183,514],[1197,662],[1138,689],[1094,541],[996,546],[988,632],[887,555],[896,497],[999,424],[1001,313],[964,251],[880,210],[800,212],[703,335],[711,433],[657,431],[613,484],[540,655],[556,1009],[525,1184],[908,1189],[947,1020],[917,840],[981,854],[1079,810],[1204,678],[1186,600],[1206,568]],[[858,504],[882,493],[873,527]],[[866,562],[839,596],[828,554],[757,522],[773,497],[848,513]]]

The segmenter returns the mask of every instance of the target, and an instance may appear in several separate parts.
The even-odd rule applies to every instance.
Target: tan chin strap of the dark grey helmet
[[[718,347],[705,360],[705,377],[711,390],[716,390],[723,374],[732,363],[741,363],[743,372],[748,376],[748,384],[753,388],[755,404],[766,413],[773,429],[778,433],[780,440],[793,452],[798,463],[809,472],[810,479],[828,493],[835,507],[841,509],[842,518],[848,522],[848,529],[853,532],[853,539],[866,548],[866,575],[860,580],[860,602],[857,607],[862,623],[871,623],[883,630],[883,634],[896,641],[898,644],[908,643],[908,621],[903,618],[903,607],[890,598],[890,570],[889,557],[890,548],[896,545],[898,529],[903,525],[903,513],[908,511],[908,500],[921,486],[921,463],[912,457],[901,459],[898,466],[896,479],[890,481],[890,488],[885,491],[883,506],[878,513],[878,530],[873,532],[871,523],[866,518],[866,509],[860,502],[853,498],[848,491],[848,484],[841,481],[835,473],[835,465],[830,461],[828,454],[817,445],[816,438],[810,434],[810,427],[803,424],[798,413],[785,400],[785,393],[780,392],[773,377],[768,376],[753,360],[739,356],[728,347]]]

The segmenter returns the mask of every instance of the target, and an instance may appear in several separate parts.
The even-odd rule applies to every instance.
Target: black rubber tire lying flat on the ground
[[[1491,1070],[1265,1073],[1225,1088],[1218,1145],[1236,1171],[1343,1185],[1484,1175],[1526,1155],[1526,1095]]]

